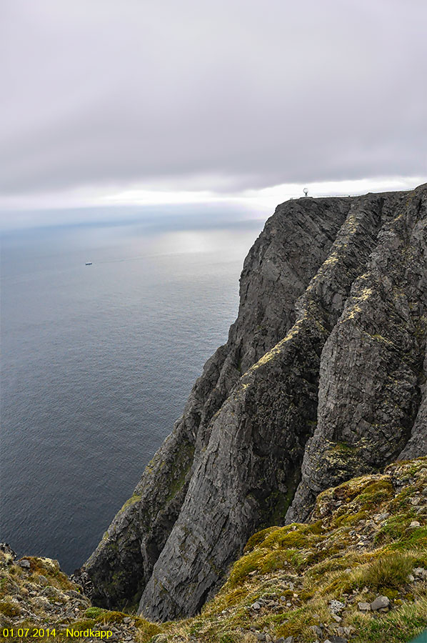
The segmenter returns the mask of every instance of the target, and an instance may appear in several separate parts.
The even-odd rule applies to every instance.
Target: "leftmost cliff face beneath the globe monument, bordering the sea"
[[[86,563],[98,604],[116,607],[141,596],[209,442],[211,418],[241,374],[293,325],[296,299],[328,256],[349,208],[349,199],[301,199],[268,219],[243,266],[227,344],[206,362],[183,416]]]

